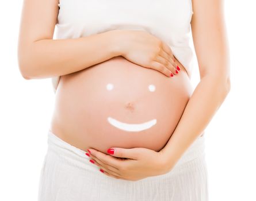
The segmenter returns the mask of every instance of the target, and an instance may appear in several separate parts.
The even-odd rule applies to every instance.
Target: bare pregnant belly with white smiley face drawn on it
[[[192,94],[184,67],[168,78],[124,57],[64,75],[56,90],[51,131],[86,150],[161,150]]]

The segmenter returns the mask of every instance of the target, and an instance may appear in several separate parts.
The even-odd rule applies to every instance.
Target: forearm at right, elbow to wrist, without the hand
[[[230,82],[208,75],[195,88],[182,117],[163,153],[167,163],[175,164],[186,149],[205,130],[230,91]]]

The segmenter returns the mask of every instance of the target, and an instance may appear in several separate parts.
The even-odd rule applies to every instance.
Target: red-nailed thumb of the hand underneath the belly
[[[127,159],[137,159],[140,153],[140,148],[131,148],[131,149],[125,149],[125,148],[109,148],[107,152],[114,156],[114,157],[120,157],[120,158],[127,158]]]

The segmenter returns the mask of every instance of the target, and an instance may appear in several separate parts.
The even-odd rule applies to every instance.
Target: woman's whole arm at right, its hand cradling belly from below
[[[193,91],[177,127],[165,148],[114,148],[112,156],[89,149],[95,165],[116,179],[137,181],[170,172],[182,154],[205,130],[230,92],[230,56],[224,1],[193,0],[191,21],[200,82]],[[196,118],[195,118],[196,117]],[[119,158],[127,160],[120,160]]]

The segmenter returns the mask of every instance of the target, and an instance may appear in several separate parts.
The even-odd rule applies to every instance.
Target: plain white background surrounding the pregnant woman
[[[255,7],[226,1],[231,91],[205,133],[210,201],[256,200]],[[22,1],[0,7],[0,200],[37,200],[55,100],[50,79],[25,80],[18,69],[21,9]],[[198,79],[196,65],[194,86]]]

